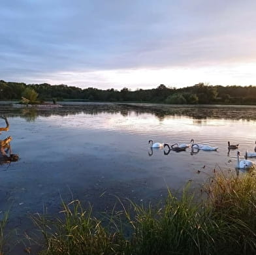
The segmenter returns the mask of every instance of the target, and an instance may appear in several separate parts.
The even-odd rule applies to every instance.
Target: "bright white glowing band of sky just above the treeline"
[[[79,87],[103,89],[151,89],[160,84],[169,87],[186,87],[199,82],[211,85],[253,85],[256,81],[256,64],[223,65],[189,68],[140,68],[126,70],[101,70],[94,72],[59,72],[38,82],[70,84]],[[49,76],[48,76],[49,77]],[[33,82],[33,80],[29,81]]]

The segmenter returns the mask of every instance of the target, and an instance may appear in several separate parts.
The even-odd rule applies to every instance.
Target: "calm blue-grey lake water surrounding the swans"
[[[214,168],[234,170],[241,155],[254,151],[253,106],[165,106],[152,104],[73,104],[52,110],[0,106],[18,162],[0,165],[0,211],[10,208],[9,228],[31,230],[27,215],[59,211],[61,198],[78,198],[97,211],[112,209],[116,196],[135,202],[157,201],[167,187],[181,190],[187,181],[201,185]],[[0,127],[5,121],[0,119]],[[154,142],[198,143],[217,151],[181,153],[150,150]],[[167,150],[166,150],[167,151]],[[198,173],[200,170],[200,174]],[[1,215],[0,214],[0,215]]]

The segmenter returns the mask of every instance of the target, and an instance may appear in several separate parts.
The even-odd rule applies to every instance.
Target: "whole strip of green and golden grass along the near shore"
[[[165,203],[120,201],[122,210],[93,217],[78,200],[63,203],[59,218],[33,217],[42,254],[256,254],[256,177],[216,173],[200,202],[184,188]]]

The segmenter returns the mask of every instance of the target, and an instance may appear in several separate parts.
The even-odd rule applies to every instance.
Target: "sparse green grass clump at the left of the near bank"
[[[112,233],[102,221],[91,215],[91,206],[83,209],[75,200],[63,203],[62,217],[52,219],[33,217],[46,241],[42,254],[123,254],[126,241],[118,230]]]

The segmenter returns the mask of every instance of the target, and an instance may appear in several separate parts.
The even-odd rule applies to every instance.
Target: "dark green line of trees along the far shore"
[[[34,89],[39,100],[85,100],[85,101],[132,101],[163,102],[167,104],[256,104],[256,86],[222,86],[198,83],[191,87],[176,89],[161,84],[155,89],[131,91],[124,87],[116,89],[96,89],[67,85],[25,84],[0,81],[0,100],[20,100],[25,88]]]

